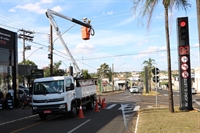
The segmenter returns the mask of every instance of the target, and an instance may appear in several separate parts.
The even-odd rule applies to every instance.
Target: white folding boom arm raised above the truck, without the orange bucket
[[[65,50],[67,51],[67,54],[68,54],[68,56],[70,57],[71,62],[72,62],[72,64],[73,64],[74,68],[75,68],[75,71],[76,71],[78,74],[81,74],[80,68],[78,67],[76,61],[74,60],[72,54],[70,53],[69,49],[67,48],[67,46],[66,46],[66,44],[65,44],[65,42],[64,42],[64,40],[63,40],[63,38],[62,38],[62,34],[61,34],[60,31],[59,31],[58,25],[56,24],[56,21],[54,20],[53,15],[56,15],[56,16],[61,17],[61,18],[64,18],[64,19],[67,19],[67,20],[69,20],[69,21],[72,21],[72,22],[74,22],[74,23],[77,23],[77,24],[79,24],[79,25],[82,25],[82,26],[85,26],[85,27],[88,27],[88,28],[91,28],[92,26],[91,26],[90,24],[88,24],[88,23],[84,23],[84,22],[81,22],[81,21],[76,20],[76,19],[74,19],[74,18],[70,18],[70,17],[64,16],[64,15],[62,15],[62,14],[60,14],[60,13],[57,13],[57,12],[55,12],[55,11],[53,11],[53,10],[50,10],[50,9],[47,9],[47,11],[46,11],[46,16],[47,16],[47,18],[49,19],[51,25],[54,27],[54,29],[55,29],[55,31],[56,31],[56,33],[57,33],[57,35],[58,35],[58,38],[60,39],[61,43],[62,43],[63,46],[65,47]]]

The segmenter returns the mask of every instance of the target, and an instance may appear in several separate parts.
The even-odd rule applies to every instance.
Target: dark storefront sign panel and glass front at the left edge
[[[8,86],[14,89],[16,100],[18,73],[17,33],[0,28],[0,92],[5,98]]]

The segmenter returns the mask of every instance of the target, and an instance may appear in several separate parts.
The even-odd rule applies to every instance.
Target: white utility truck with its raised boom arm
[[[94,101],[97,100],[95,80],[81,79],[81,71],[65,45],[53,15],[92,29],[89,23],[66,17],[50,9],[46,11],[46,16],[65,47],[77,75],[73,77],[71,73],[73,68],[71,66],[71,74],[69,76],[54,76],[34,80],[32,112],[33,114],[39,114],[42,120],[46,119],[48,115],[60,113],[70,113],[73,117],[77,114],[78,107],[86,106],[87,109],[93,109]]]

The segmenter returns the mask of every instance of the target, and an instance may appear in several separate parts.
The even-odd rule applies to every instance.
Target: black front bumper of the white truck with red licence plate
[[[32,114],[61,114],[67,113],[66,104],[32,106]]]

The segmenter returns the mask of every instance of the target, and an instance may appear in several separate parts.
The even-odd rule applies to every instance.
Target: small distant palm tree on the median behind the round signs
[[[148,80],[149,80],[149,83],[150,83],[150,85],[149,85],[150,90],[149,91],[151,91],[151,77],[152,77],[151,76],[151,70],[153,68],[153,64],[156,64],[156,63],[155,63],[154,59],[149,58],[149,60],[145,60],[142,64],[146,65],[147,68],[148,68]]]

